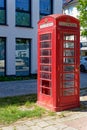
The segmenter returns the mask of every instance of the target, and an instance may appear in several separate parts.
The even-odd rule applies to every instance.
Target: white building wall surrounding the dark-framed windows
[[[53,13],[62,13],[62,0],[53,0]],[[15,39],[31,40],[31,73],[37,72],[37,22],[39,21],[39,0],[32,0],[32,28],[15,27],[15,0],[7,0],[7,25],[0,26],[0,37],[6,37],[6,73],[15,75]]]

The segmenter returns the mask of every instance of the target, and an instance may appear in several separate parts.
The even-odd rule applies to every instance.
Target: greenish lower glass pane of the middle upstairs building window
[[[29,13],[16,12],[16,25],[30,26]]]

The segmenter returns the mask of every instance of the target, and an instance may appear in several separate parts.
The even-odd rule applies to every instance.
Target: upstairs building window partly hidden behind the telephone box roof
[[[40,0],[40,18],[53,13],[52,0]]]

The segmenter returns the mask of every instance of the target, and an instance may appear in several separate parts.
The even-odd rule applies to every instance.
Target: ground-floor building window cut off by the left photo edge
[[[0,38],[0,76],[5,75],[6,38]]]

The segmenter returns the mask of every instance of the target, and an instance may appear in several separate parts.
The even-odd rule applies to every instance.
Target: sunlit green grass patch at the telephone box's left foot
[[[36,105],[35,94],[0,98],[0,124],[10,124],[23,118],[41,117],[44,114],[47,114],[47,111]]]

